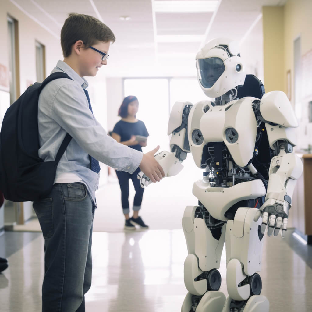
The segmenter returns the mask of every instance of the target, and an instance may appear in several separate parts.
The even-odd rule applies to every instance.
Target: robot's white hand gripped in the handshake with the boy
[[[156,154],[154,157],[163,167],[165,177],[174,176],[178,174],[183,168],[183,165],[180,163],[179,159],[176,158],[175,153],[173,152],[162,151]],[[149,183],[151,183],[150,178],[144,174],[143,171],[138,173],[138,179],[141,180],[142,188],[144,188],[144,186],[148,186]]]

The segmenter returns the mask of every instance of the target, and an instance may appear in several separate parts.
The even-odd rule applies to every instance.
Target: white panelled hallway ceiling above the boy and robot
[[[216,12],[155,12],[158,0],[10,0],[59,40],[68,13],[89,14],[115,33],[105,76],[195,76],[195,55],[215,37],[251,44],[262,42],[262,6],[284,5],[286,0],[218,0]],[[175,0],[173,0],[175,1]],[[192,0],[193,1],[193,0]],[[131,17],[128,21],[120,16]],[[256,21],[256,22],[255,22]],[[246,36],[253,30],[253,38]],[[192,42],[158,42],[173,35],[189,35]],[[59,44],[59,41],[58,41]]]

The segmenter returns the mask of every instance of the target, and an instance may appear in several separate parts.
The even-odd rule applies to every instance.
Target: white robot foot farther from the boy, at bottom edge
[[[269,312],[269,306],[269,300],[261,295],[253,295],[245,301],[227,297],[222,312]]]

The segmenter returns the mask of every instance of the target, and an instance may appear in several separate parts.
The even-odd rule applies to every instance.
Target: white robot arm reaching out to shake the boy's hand
[[[163,167],[165,177],[171,177],[178,174],[186,159],[187,153],[190,152],[188,144],[188,114],[193,105],[190,102],[179,101],[173,105],[168,122],[168,135],[171,134],[170,152],[162,151],[154,157]],[[148,186],[150,183],[142,171],[138,173],[138,179],[141,180],[141,187]]]

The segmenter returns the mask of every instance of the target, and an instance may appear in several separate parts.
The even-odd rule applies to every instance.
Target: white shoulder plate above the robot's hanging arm
[[[296,128],[298,121],[287,95],[283,91],[271,91],[264,94],[260,102],[263,119],[283,127]]]

